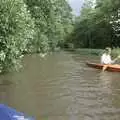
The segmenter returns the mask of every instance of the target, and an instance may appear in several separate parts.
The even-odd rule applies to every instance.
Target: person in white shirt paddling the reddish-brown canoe
[[[107,69],[110,64],[114,64],[116,60],[118,60],[120,56],[116,57],[115,59],[111,59],[111,48],[106,47],[105,52],[101,56],[101,64],[104,64],[103,71]]]

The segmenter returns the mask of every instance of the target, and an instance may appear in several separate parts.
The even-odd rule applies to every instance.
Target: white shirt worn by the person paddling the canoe
[[[109,54],[104,53],[101,56],[101,64],[111,64],[114,63],[114,61],[111,60],[111,56]]]

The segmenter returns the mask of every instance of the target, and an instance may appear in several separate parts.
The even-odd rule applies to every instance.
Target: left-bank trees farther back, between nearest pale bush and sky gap
[[[65,0],[25,2],[35,20],[36,34],[30,48],[35,48],[34,52],[48,52],[63,44],[72,30],[72,14],[68,3]]]

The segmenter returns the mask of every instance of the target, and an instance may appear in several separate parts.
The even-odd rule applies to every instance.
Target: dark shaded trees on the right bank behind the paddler
[[[85,0],[69,37],[75,47],[120,47],[120,0]]]

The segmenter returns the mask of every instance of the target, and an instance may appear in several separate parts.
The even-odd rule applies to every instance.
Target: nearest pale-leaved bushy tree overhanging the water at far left
[[[34,22],[22,0],[0,1],[0,71],[18,68]]]

